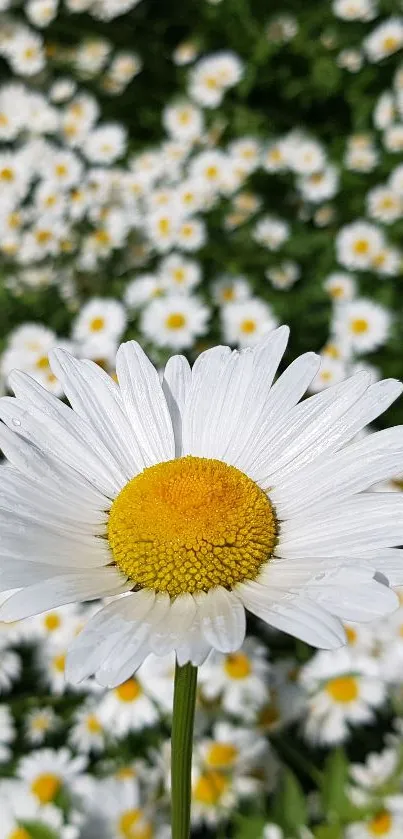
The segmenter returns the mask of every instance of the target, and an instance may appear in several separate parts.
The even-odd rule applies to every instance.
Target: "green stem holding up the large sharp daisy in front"
[[[172,718],[172,839],[189,839],[193,724],[196,704],[197,667],[175,668]]]

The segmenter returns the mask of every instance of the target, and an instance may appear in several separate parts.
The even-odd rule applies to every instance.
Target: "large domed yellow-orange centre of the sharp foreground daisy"
[[[267,495],[234,466],[202,457],[145,469],[108,522],[116,565],[137,586],[171,597],[255,579],[276,538]]]

